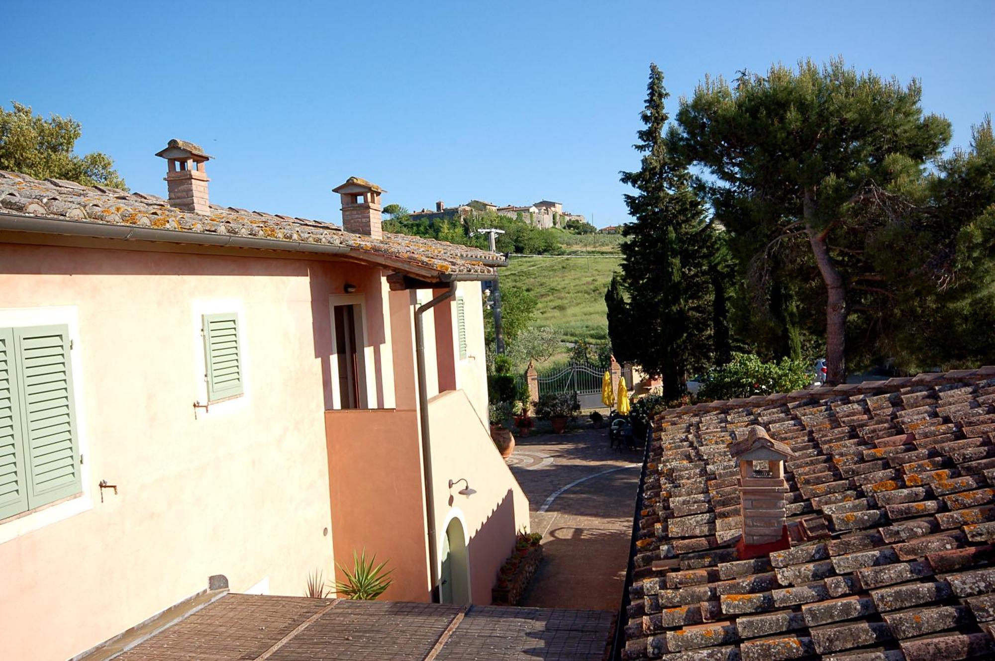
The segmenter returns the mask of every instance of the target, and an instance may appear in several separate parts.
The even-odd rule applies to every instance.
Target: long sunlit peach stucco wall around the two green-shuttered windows
[[[204,589],[211,574],[233,591],[268,579],[271,592],[297,595],[309,571],[329,574],[328,296],[346,276],[368,294],[377,360],[390,360],[378,269],[0,244],[0,312],[64,306],[78,318],[90,501],[0,544],[0,658],[66,659]],[[198,311],[212,307],[239,312],[246,394],[195,415]],[[119,487],[102,503],[101,479]],[[30,521],[0,522],[0,533]]]

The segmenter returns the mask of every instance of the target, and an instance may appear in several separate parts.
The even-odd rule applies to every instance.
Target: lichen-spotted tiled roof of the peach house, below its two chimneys
[[[383,238],[376,239],[344,232],[326,221],[217,204],[210,208],[209,216],[199,215],[171,206],[158,195],[109,186],[85,186],[62,179],[43,181],[28,174],[0,170],[0,215],[171,230],[189,232],[192,236],[270,239],[286,242],[286,249],[291,251],[299,249],[299,244],[341,246],[355,258],[368,255],[372,262],[387,260],[401,270],[410,265],[416,272],[490,275],[500,261],[499,256],[489,251],[424,237],[384,233]]]

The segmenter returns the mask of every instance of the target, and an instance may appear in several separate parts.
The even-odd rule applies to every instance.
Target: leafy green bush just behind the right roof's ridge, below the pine
[[[705,372],[697,395],[701,399],[751,397],[800,390],[812,381],[808,364],[801,360],[763,362],[751,353],[733,353],[729,362]]]

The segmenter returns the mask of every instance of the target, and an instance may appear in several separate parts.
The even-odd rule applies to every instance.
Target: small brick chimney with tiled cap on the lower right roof
[[[749,427],[746,440],[733,443],[729,451],[739,462],[742,545],[782,542],[786,539],[784,494],[788,491],[784,460],[795,453],[784,443],[773,440],[760,425]],[[790,542],[784,548],[789,546]]]

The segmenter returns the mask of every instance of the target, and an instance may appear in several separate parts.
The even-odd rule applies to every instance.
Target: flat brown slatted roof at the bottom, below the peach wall
[[[135,661],[602,661],[612,615],[227,594],[116,658]]]

